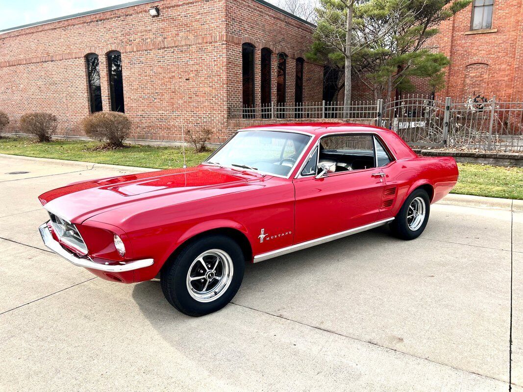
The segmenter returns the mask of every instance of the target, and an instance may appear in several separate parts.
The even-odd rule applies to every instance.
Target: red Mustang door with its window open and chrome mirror
[[[319,163],[334,172],[316,178]],[[371,134],[323,136],[293,180],[294,244],[364,226],[378,220],[385,174],[377,168]]]

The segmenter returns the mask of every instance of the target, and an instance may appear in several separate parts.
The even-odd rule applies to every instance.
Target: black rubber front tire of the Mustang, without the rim
[[[198,262],[193,264],[196,262],[197,258],[210,250],[219,250],[221,252],[225,252],[226,256],[230,257],[228,265],[232,261],[232,269],[230,269],[232,278],[226,280],[229,282],[229,284],[219,292],[220,294],[218,297],[214,299],[207,299],[208,302],[201,302],[201,300],[194,297],[194,295],[200,295],[198,292],[196,292],[196,294],[194,292],[189,292],[189,285],[198,284],[199,279],[196,281],[196,283],[189,283],[188,273],[191,266],[191,271],[195,271],[195,269],[197,269],[197,265],[199,265]],[[225,263],[225,261],[222,262]],[[201,271],[206,273],[203,268]],[[222,269],[222,276],[224,275],[223,271],[224,270]],[[192,241],[187,246],[185,246],[184,249],[181,250],[181,252],[179,252],[174,259],[169,260],[162,268],[160,282],[165,298],[171,305],[173,305],[181,313],[184,313],[188,316],[197,317],[216,312],[231,302],[238,289],[240,289],[244,271],[245,258],[240,246],[238,246],[238,244],[230,237],[223,235],[210,235]],[[197,275],[199,271],[196,272],[197,273],[195,274]],[[219,275],[219,273],[216,273],[216,275]],[[192,276],[192,274],[190,276]],[[205,279],[207,282],[207,278]],[[209,280],[209,282],[214,281]],[[221,281],[219,281],[218,284],[220,284],[220,282]],[[210,284],[212,285],[213,283]],[[212,288],[212,286],[210,286],[210,288]],[[217,292],[214,292],[209,295],[216,294]]]

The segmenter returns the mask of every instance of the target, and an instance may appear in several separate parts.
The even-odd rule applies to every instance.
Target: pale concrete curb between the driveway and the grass
[[[152,169],[145,167],[136,166],[122,166],[122,165],[109,165],[109,164],[98,164],[92,162],[82,162],[77,160],[65,160],[65,159],[53,159],[53,158],[36,158],[22,155],[10,155],[0,154],[2,158],[9,159],[22,159],[30,160],[32,162],[48,162],[54,165],[70,166],[76,168],[82,168],[92,170],[94,168],[112,169],[118,171],[127,172],[144,172],[144,171],[158,171],[161,169]],[[484,208],[484,209],[496,209],[496,210],[508,210],[508,211],[521,211],[523,212],[523,200],[513,199],[498,199],[498,198],[487,198],[483,196],[472,196],[468,194],[448,194],[443,199],[438,201],[436,204],[445,205],[461,205],[466,207]]]

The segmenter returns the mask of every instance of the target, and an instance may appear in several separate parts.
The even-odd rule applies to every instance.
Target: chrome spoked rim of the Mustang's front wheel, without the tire
[[[209,268],[206,264],[202,263],[203,258],[208,257],[212,257],[215,259],[215,264],[211,265],[211,268]],[[201,266],[202,268],[205,268],[205,270],[203,270],[202,274],[198,274],[201,276],[194,276],[194,274],[192,274],[193,276],[191,276],[193,270],[199,268],[197,264],[199,264],[199,266]],[[217,270],[221,272],[217,273]],[[232,282],[233,273],[234,266],[232,258],[231,256],[229,256],[229,253],[221,249],[206,250],[192,261],[189,270],[187,271],[187,291],[189,292],[189,295],[198,302],[206,303],[215,301],[216,299],[221,297],[227,291],[227,289],[229,289],[229,286]],[[192,282],[196,280],[201,281],[201,279],[203,279],[203,283],[207,284],[212,284],[212,282],[215,279],[217,279],[218,283],[214,286],[211,285],[211,289],[198,291],[196,290]],[[204,285],[204,288],[205,287],[207,287],[207,285]]]

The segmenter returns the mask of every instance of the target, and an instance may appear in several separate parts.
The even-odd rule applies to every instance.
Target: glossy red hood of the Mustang
[[[174,195],[172,204],[177,204],[261,178],[252,172],[198,166],[77,182],[43,193],[39,199],[48,211],[72,223],[82,223],[129,203]],[[204,189],[218,191],[195,192]]]

